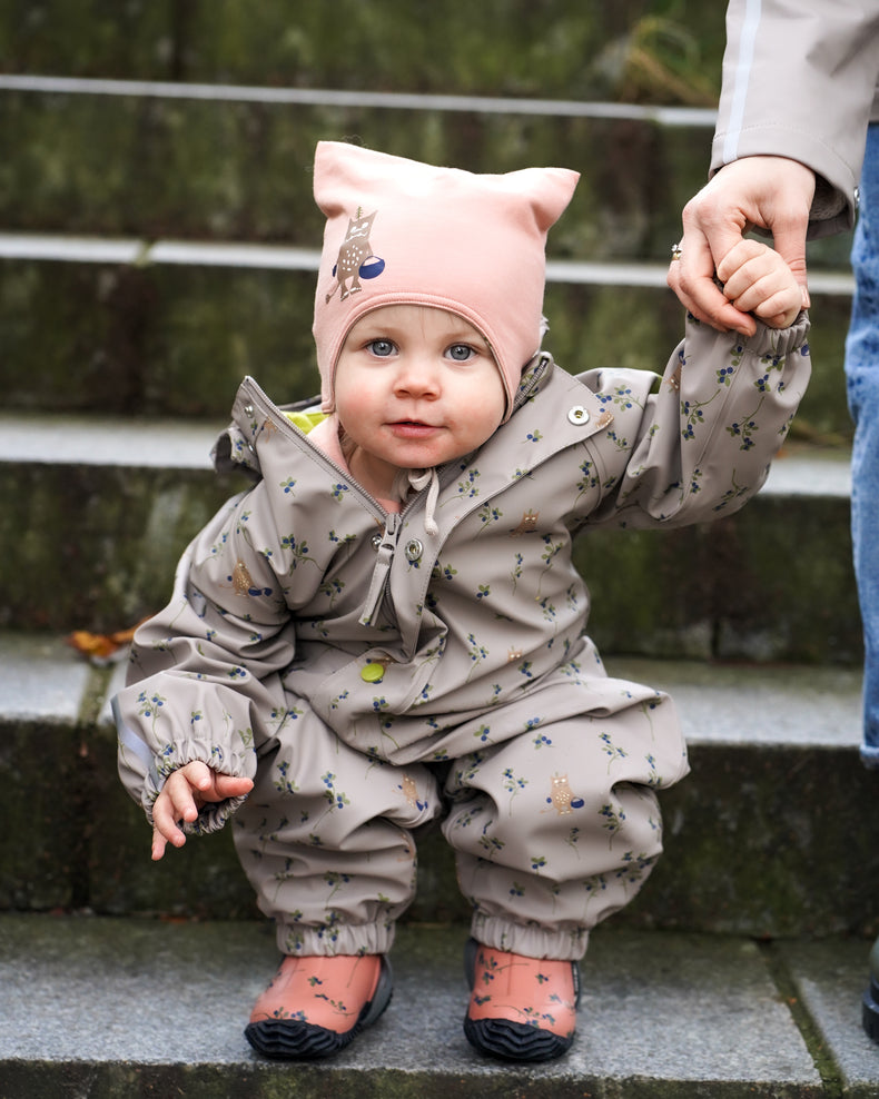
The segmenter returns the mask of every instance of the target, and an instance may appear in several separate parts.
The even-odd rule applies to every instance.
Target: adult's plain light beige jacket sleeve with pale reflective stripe
[[[850,227],[877,78],[876,0],[729,0],[711,174],[799,160],[818,177],[809,235]]]

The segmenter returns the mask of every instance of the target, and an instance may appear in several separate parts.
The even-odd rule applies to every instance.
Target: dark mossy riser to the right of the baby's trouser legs
[[[614,923],[768,939],[875,933],[879,854],[863,826],[875,778],[849,749],[800,752],[796,773],[791,758],[778,745],[691,747],[692,773],[660,795],[664,854]]]

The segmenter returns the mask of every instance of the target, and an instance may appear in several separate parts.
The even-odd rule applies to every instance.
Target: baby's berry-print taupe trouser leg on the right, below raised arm
[[[671,702],[580,716],[458,761],[443,825],[485,945],[575,960],[662,850],[653,788],[687,772]],[[672,717],[666,759],[656,731]]]

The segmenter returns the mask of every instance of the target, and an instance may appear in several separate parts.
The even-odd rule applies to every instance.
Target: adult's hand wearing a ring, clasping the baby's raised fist
[[[751,336],[753,317],[737,309],[714,283],[718,264],[753,226],[772,232],[776,250],[809,305],[806,229],[814,197],[814,172],[787,157],[745,157],[721,170],[683,208],[680,259],[666,281],[684,306],[713,328]]]

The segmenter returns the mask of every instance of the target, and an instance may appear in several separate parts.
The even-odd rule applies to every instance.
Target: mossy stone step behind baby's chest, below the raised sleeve
[[[224,423],[0,414],[0,628],[116,632],[160,610],[189,538],[246,487],[209,468]],[[861,660],[845,449],[790,445],[738,515],[586,532],[575,557],[608,652]]]

